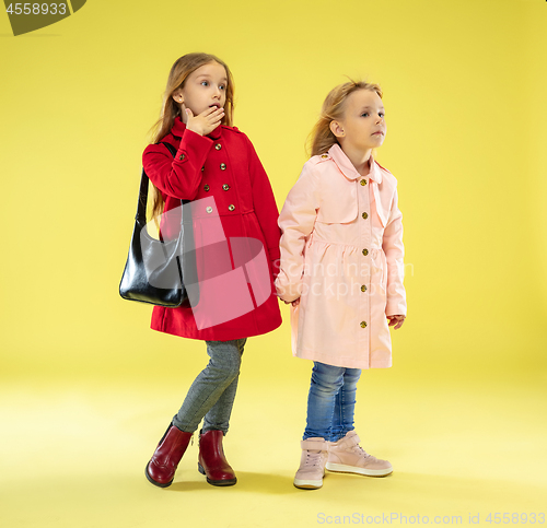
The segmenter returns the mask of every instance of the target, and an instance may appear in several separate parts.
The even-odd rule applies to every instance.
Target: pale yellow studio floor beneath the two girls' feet
[[[242,376],[225,439],[237,484],[207,484],[195,442],[174,484],[161,490],[148,483],[144,466],[182,388],[5,382],[0,526],[493,526],[494,513],[500,524],[510,514],[510,525],[529,525],[535,513],[542,526],[540,512],[547,524],[546,384],[539,376],[452,385],[411,378],[395,387],[385,372],[363,373],[356,429],[363,447],[395,471],[384,479],[327,473],[317,491],[292,485],[306,391],[292,382],[259,385]]]

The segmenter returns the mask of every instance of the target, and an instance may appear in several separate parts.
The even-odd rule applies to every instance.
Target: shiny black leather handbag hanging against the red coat
[[[173,157],[176,149],[163,143]],[[188,304],[186,283],[197,292],[196,254],[189,200],[181,200],[181,231],[173,239],[153,238],[147,231],[149,178],[144,168],[140,181],[135,227],[126,267],[119,283],[119,294],[128,301],[176,308]],[[188,282],[189,281],[189,282]],[[197,300],[196,300],[197,302]]]

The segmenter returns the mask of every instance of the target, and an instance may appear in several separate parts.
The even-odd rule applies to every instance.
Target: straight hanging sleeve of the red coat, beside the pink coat
[[[266,240],[266,249],[271,262],[271,271],[274,279],[276,279],[279,273],[279,238],[281,237],[281,231],[277,224],[279,210],[268,175],[258,159],[258,154],[253,143],[248,138],[246,138],[246,140],[249,150],[248,168],[253,189],[253,208],[258,224],[260,225],[264,239]]]

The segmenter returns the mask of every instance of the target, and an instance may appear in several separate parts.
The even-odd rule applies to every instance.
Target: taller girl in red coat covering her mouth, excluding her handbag
[[[234,85],[228,66],[188,54],[171,69],[154,144],[142,163],[155,190],[153,215],[191,200],[199,301],[155,306],[152,328],[203,340],[210,357],[147,465],[148,480],[166,488],[199,433],[198,470],[213,485],[235,484],[222,439],[229,429],[246,338],[281,325],[274,280],[280,230],[268,176],[248,138],[232,126]],[[173,157],[170,143],[176,149]]]

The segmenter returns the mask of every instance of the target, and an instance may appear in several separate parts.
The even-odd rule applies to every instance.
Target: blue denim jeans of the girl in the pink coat
[[[360,376],[360,368],[314,361],[303,439],[321,437],[337,442],[353,431],[357,382]]]

